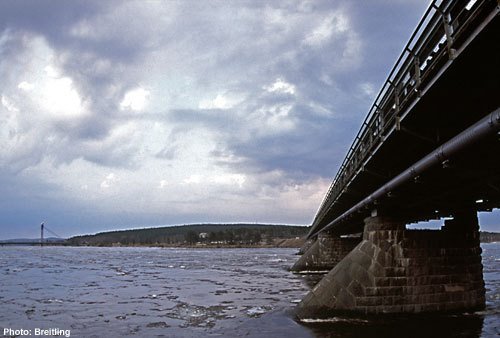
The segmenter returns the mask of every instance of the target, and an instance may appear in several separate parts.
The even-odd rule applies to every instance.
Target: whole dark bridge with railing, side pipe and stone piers
[[[299,318],[484,306],[477,212],[500,207],[499,8],[435,0],[423,15],[292,268],[330,271]]]

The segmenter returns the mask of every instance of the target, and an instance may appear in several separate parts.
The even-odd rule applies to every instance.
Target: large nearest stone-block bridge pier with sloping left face
[[[463,312],[484,307],[475,212],[441,230],[406,230],[385,217],[365,219],[363,241],[297,307],[299,319],[338,314]]]

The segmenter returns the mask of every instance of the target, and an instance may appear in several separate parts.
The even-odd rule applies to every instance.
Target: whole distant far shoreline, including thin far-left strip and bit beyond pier
[[[44,245],[159,248],[300,248],[309,227],[266,224],[196,224],[134,229],[50,239]],[[500,242],[500,233],[480,231],[481,243]],[[2,240],[0,246],[40,245],[39,239]],[[19,243],[22,242],[22,243]],[[31,244],[29,244],[31,243]]]

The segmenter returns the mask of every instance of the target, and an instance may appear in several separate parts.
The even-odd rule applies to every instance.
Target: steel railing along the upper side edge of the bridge
[[[497,5],[493,0],[432,2],[371,106],[316,213],[311,233],[363,163],[392,130],[399,129],[402,115],[421,97],[422,89],[456,57],[459,46],[471,35],[471,27],[481,23]]]

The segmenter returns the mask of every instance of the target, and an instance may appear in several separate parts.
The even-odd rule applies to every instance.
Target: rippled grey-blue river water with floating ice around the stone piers
[[[307,326],[293,310],[320,276],[288,271],[296,249],[0,247],[0,336],[499,336],[500,244],[482,247],[485,311]]]

